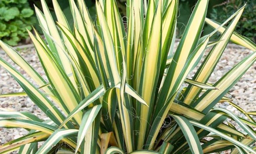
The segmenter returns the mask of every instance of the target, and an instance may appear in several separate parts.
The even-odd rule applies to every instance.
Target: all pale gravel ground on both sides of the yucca
[[[214,73],[209,79],[210,83],[215,83],[220,79],[224,73],[226,73],[232,66],[240,62],[246,55],[250,54],[252,51],[238,47],[236,45],[229,45],[218,63]],[[44,71],[39,63],[34,49],[25,49],[20,52],[20,54],[34,67],[44,78]],[[206,52],[207,54],[207,52]],[[0,54],[0,57],[7,60],[12,66],[14,63],[5,54]],[[21,73],[28,77],[25,72],[17,67]],[[245,75],[239,80],[239,82],[230,90],[233,102],[241,106],[245,111],[255,111],[256,110],[256,63],[245,73]],[[17,84],[16,81],[0,67],[0,93],[10,93],[10,92],[21,92],[22,88]],[[239,115],[239,111],[234,107],[230,106],[228,103],[217,104],[219,107],[227,108],[228,110]],[[7,108],[15,111],[28,111],[38,116],[39,118],[46,118],[45,114],[33,104],[33,102],[28,97],[9,97],[0,98],[0,107]],[[0,145],[9,142],[13,139],[17,139],[28,131],[22,128],[12,128],[5,129],[0,128]]]

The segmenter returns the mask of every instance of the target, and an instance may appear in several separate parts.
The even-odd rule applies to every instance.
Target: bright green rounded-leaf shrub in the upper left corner
[[[34,11],[27,0],[0,1],[0,39],[11,46],[17,45],[21,39],[26,39],[35,23]]]

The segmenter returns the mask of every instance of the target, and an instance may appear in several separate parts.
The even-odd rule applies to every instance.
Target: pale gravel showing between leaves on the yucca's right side
[[[252,53],[251,50],[239,47],[237,45],[229,45],[222,55],[217,67],[209,79],[209,83],[217,82],[229,69],[243,60],[247,55]],[[207,54],[207,53],[206,53]],[[246,112],[256,111],[256,63],[254,63],[242,76],[242,78],[229,90],[230,95],[226,95],[232,99],[232,102],[242,107]],[[244,114],[241,114],[235,107],[228,103],[218,103],[216,107],[226,108],[229,111],[248,119]],[[253,117],[256,119],[256,116]],[[239,126],[231,120],[228,120],[236,126],[240,131],[243,131]],[[254,128],[254,130],[256,130]]]

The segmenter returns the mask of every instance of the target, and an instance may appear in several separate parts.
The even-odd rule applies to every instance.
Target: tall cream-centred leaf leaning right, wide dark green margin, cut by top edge
[[[160,91],[159,97],[161,99],[158,101],[158,106],[163,106],[168,98],[178,90],[178,85],[182,84],[182,82],[180,83],[176,81],[186,64],[190,53],[192,53],[197,47],[201,31],[203,29],[207,7],[208,0],[199,0],[191,14],[186,29],[181,37],[181,41],[168,69],[162,90]],[[156,113],[158,113],[158,111],[159,109],[156,109]]]

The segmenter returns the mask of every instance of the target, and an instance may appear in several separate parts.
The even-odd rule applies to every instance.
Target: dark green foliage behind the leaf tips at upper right
[[[177,37],[181,37],[185,25],[188,22],[190,14],[197,0],[180,0],[180,16],[178,18]],[[219,23],[223,23],[236,10],[247,3],[243,15],[237,24],[236,32],[243,34],[253,42],[256,42],[256,1],[255,0],[212,0],[209,1],[207,17]],[[208,25],[205,25],[203,35],[212,31]],[[215,36],[215,39],[219,35]]]

